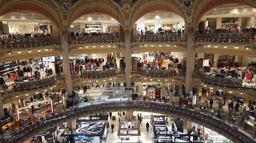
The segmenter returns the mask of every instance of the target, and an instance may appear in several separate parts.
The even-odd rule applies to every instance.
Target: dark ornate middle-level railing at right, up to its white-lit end
[[[243,80],[238,80],[236,78],[220,78],[203,72],[193,72],[193,75],[202,82],[225,87],[242,87],[243,82]]]

